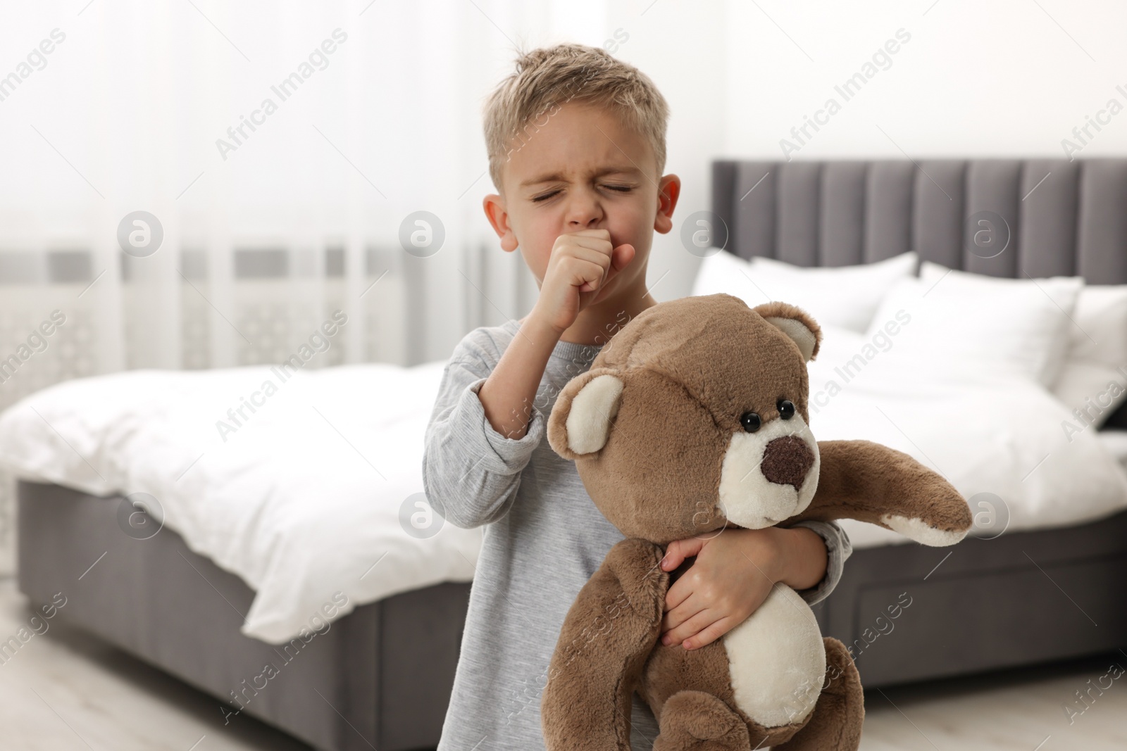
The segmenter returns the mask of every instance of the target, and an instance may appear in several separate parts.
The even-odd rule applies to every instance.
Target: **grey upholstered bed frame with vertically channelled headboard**
[[[1127,284],[1127,160],[718,161],[712,211],[725,249],[743,258],[841,266],[916,249],[980,274]],[[965,220],[979,211],[1011,229],[995,258],[971,252]],[[1109,426],[1127,427],[1127,410]],[[247,714],[317,749],[437,743],[468,584],[362,606],[283,654],[240,633],[254,598],[242,580],[170,529],[125,535],[121,498],[20,482],[18,499],[19,585],[33,607],[61,591],[56,617],[219,697],[216,712],[245,692]],[[815,613],[876,688],[1117,649],[1127,642],[1124,581],[1127,512],[950,551],[858,549]],[[266,663],[277,676],[254,694]]]

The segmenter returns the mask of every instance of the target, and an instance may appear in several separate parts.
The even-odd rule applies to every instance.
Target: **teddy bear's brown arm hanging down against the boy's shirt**
[[[611,548],[568,610],[541,697],[548,751],[630,750],[630,709],[660,633],[668,574],[641,539]]]

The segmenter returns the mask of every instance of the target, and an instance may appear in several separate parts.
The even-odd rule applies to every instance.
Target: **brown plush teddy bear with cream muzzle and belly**
[[[635,692],[658,719],[656,751],[858,748],[857,668],[782,583],[711,644],[659,642],[685,567],[659,565],[675,539],[804,519],[859,519],[924,545],[970,529],[958,491],[908,455],[815,440],[806,364],[820,341],[793,305],[684,297],[637,315],[560,392],[548,440],[625,539],[560,631],[541,697],[549,751],[628,751]]]

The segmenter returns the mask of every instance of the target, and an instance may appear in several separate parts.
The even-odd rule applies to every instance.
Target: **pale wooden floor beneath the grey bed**
[[[0,579],[0,640],[26,627],[32,615],[14,580]],[[310,751],[247,716],[224,725],[218,699],[94,637],[47,623],[45,634],[0,664],[5,749]],[[1117,671],[1127,668],[1127,654],[868,691],[861,748],[1127,749],[1127,674],[1102,694],[1092,689],[1095,698],[1086,708],[1074,695],[1089,688],[1089,679],[1099,682],[1113,662]],[[1066,705],[1074,707],[1071,724]]]

